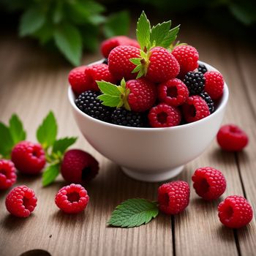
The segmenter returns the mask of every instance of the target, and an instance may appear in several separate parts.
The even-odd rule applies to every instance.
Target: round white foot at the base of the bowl
[[[127,176],[131,178],[135,178],[138,181],[147,181],[147,182],[158,182],[158,181],[166,181],[170,178],[177,176],[183,170],[184,165],[176,167],[171,170],[167,170],[163,173],[140,173],[137,170],[132,170],[127,167],[121,167]]]

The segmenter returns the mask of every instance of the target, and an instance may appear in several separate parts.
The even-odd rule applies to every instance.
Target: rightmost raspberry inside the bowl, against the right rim
[[[210,95],[211,99],[219,99],[222,97],[224,89],[224,79],[222,74],[215,71],[208,71],[204,74],[206,78],[205,91]]]

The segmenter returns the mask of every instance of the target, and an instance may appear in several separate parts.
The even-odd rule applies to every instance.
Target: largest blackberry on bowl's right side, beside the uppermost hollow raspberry
[[[183,81],[189,89],[189,95],[199,95],[204,89],[205,80],[202,72],[187,72]]]

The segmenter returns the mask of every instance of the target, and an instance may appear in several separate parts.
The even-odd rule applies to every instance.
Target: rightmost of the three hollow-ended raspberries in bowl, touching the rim
[[[188,123],[198,121],[210,115],[210,110],[206,101],[197,95],[187,99],[187,102],[182,105],[182,112]]]

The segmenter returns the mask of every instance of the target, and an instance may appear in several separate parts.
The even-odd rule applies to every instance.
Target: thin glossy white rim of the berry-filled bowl
[[[99,61],[94,61],[93,63],[89,64],[88,66],[91,66],[91,65],[94,65],[94,64],[100,64],[100,63],[102,63],[102,61],[103,61],[103,59],[99,60]],[[207,69],[211,69],[210,71],[219,72],[218,69],[216,69],[215,67],[212,67],[210,64],[207,64],[204,61],[198,61],[198,63],[206,65]],[[78,113],[80,113],[80,115],[82,115],[83,117],[88,118],[89,120],[94,121],[95,123],[99,123],[99,124],[105,125],[107,127],[113,127],[113,128],[116,128],[116,129],[128,129],[128,130],[136,130],[136,131],[157,132],[159,130],[163,131],[163,130],[186,129],[187,127],[192,127],[192,126],[200,124],[204,121],[207,121],[210,118],[214,118],[214,116],[216,116],[227,105],[227,100],[228,100],[228,97],[229,97],[229,89],[228,89],[227,83],[225,82],[222,99],[220,99],[220,101],[219,101],[218,108],[214,111],[214,113],[211,113],[209,116],[206,116],[205,118],[202,118],[200,120],[197,120],[197,121],[194,121],[194,122],[188,123],[188,124],[177,125],[175,127],[157,127],[157,128],[154,128],[154,127],[124,127],[124,126],[121,126],[121,125],[118,125],[118,124],[110,124],[110,123],[107,123],[105,121],[101,121],[97,118],[93,118],[93,117],[87,115],[86,113],[83,113],[83,111],[80,110],[75,105],[75,94],[73,93],[73,91],[71,89],[71,86],[68,86],[67,94],[68,94],[69,102],[72,105],[72,108],[74,110],[76,110]]]

